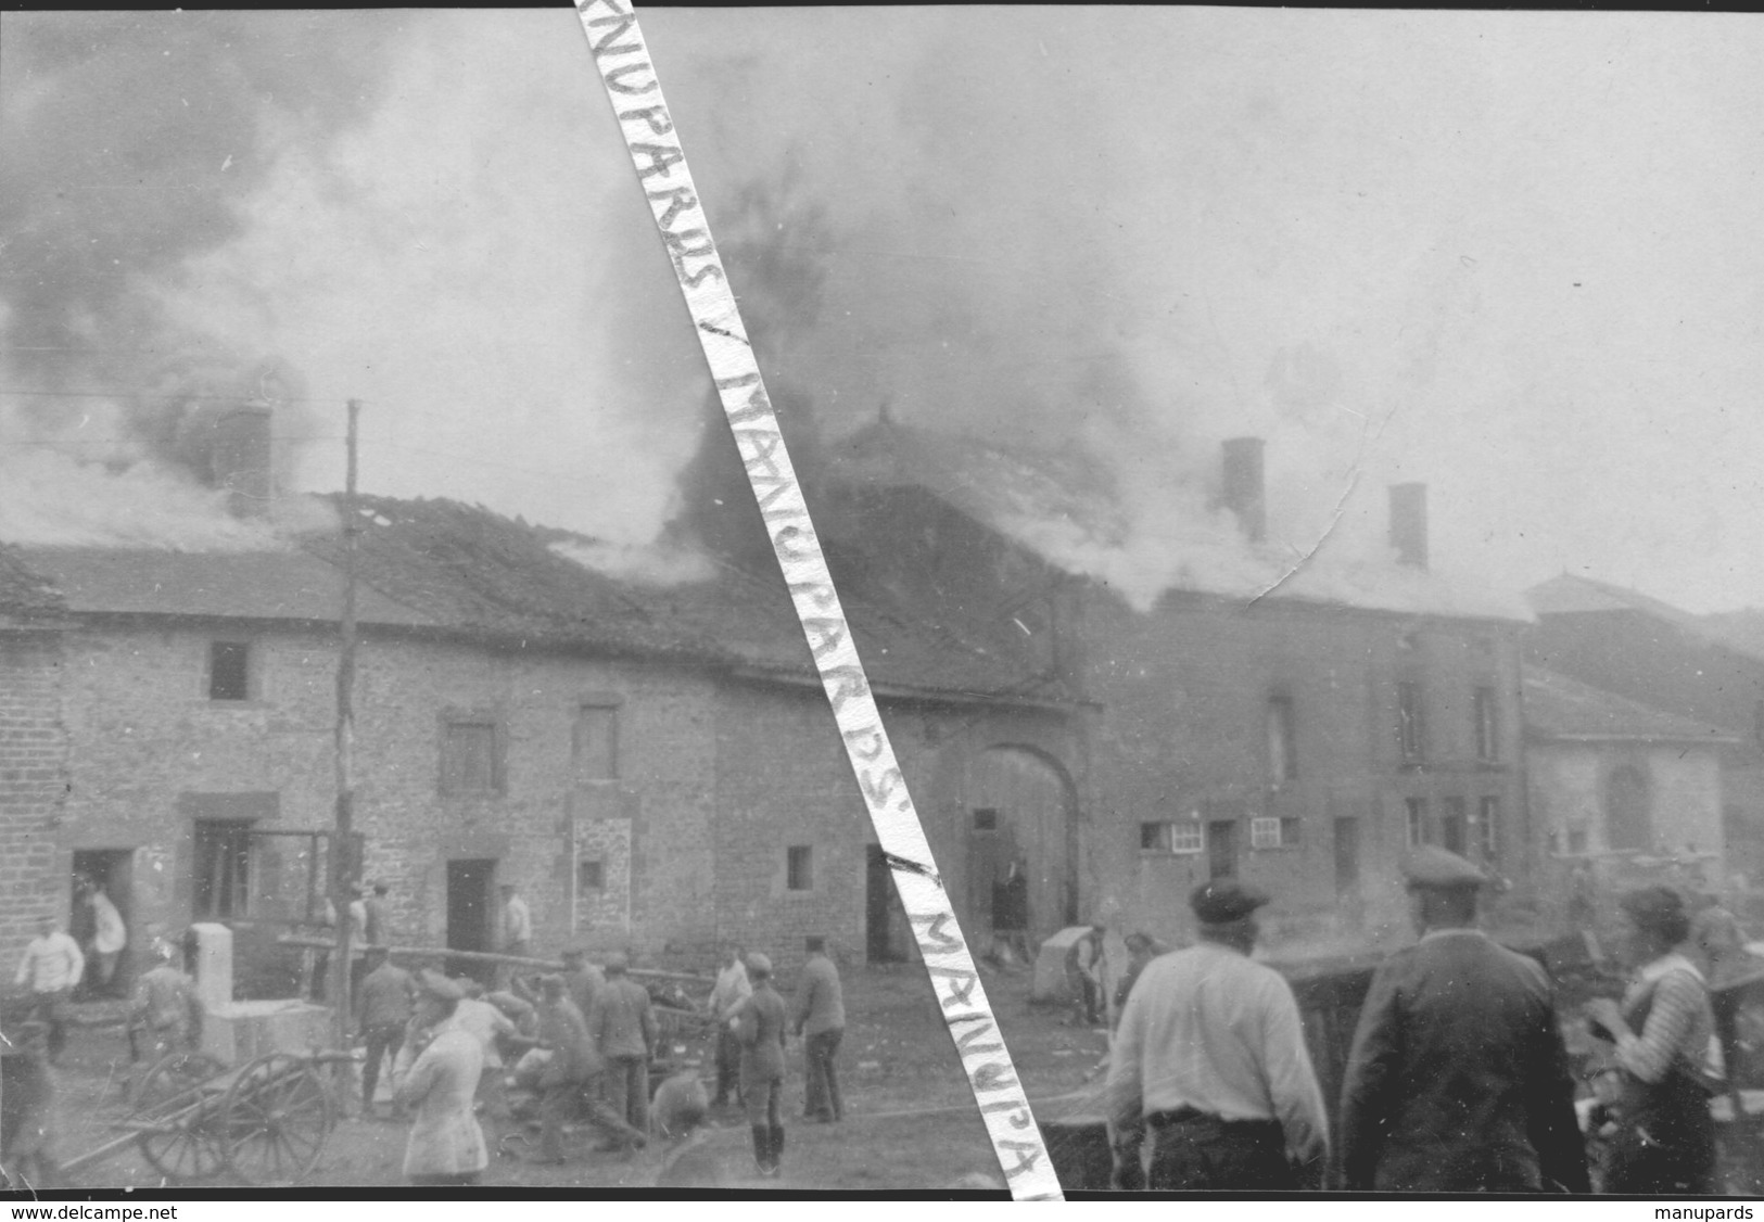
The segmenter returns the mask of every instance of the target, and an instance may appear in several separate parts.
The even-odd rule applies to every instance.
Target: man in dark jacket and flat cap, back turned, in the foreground
[[[1544,968],[1476,929],[1487,876],[1443,848],[1406,868],[1420,942],[1385,959],[1341,1093],[1349,1190],[1588,1192]]]

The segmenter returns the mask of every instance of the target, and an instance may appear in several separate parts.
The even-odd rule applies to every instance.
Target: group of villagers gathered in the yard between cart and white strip
[[[594,1150],[624,1159],[651,1136],[665,1136],[667,1174],[702,1125],[718,1113],[734,1123],[729,1109],[736,1107],[751,1130],[757,1173],[778,1176],[792,1032],[804,1040],[804,1118],[834,1123],[845,1111],[840,973],[824,938],[808,938],[806,950],[789,1002],[773,984],[767,956],[734,945],[723,950],[711,995],[691,1012],[714,1065],[711,1099],[695,1072],[651,1090],[662,1025],[624,952],[596,966],[572,947],[561,956],[563,972],[503,972],[497,987],[485,989],[436,968],[406,970],[383,947],[370,947],[355,995],[363,1114],[381,1116],[377,1097],[388,1074],[386,1118],[411,1125],[404,1174],[436,1185],[476,1183],[494,1151],[534,1164],[572,1162],[572,1127],[598,1132]],[[452,1035],[441,1040],[443,1032]],[[531,1130],[536,1148],[517,1153],[533,1144]]]

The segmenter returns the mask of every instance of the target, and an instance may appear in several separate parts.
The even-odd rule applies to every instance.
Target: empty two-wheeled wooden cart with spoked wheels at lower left
[[[125,1136],[62,1169],[132,1143],[180,1183],[228,1173],[247,1185],[298,1183],[318,1166],[337,1123],[328,1067],[353,1060],[351,1053],[268,1053],[229,1070],[205,1053],[171,1053],[146,1070],[131,1113],[111,1125]]]

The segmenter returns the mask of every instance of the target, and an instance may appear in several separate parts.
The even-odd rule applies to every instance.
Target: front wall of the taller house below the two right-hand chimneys
[[[1270,942],[1360,945],[1402,933],[1415,836],[1524,889],[1519,628],[1194,594],[1140,614],[1092,598],[1094,901],[1178,938],[1189,890],[1231,873],[1275,896]]]

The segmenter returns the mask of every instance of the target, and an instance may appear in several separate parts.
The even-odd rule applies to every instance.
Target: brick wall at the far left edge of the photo
[[[56,859],[67,781],[60,672],[60,633],[0,633],[0,965],[9,973],[39,917],[67,919]]]

